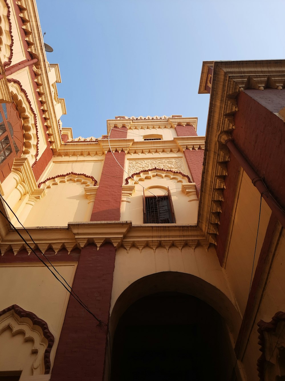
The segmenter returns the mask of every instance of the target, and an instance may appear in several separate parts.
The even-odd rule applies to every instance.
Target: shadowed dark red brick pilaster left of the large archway
[[[98,251],[93,244],[84,247],[72,285],[90,311],[106,323],[115,255],[116,248],[111,243],[106,243]],[[106,343],[105,330],[70,296],[51,381],[103,380]]]

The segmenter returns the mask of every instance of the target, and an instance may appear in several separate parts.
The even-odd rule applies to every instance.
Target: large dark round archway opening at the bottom
[[[235,309],[224,294],[192,277],[152,274],[120,295],[111,314],[111,381],[232,379],[226,320],[235,320]]]

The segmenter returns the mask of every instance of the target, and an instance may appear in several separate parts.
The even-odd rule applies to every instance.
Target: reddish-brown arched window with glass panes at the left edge
[[[24,130],[14,103],[0,104],[0,181],[11,172],[14,157],[21,157]]]

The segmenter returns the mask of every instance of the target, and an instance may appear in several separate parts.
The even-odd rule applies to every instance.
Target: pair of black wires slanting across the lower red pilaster
[[[0,195],[1,199],[3,199],[2,195]],[[5,201],[5,200],[4,200]],[[5,201],[6,205],[9,207],[8,203]],[[11,208],[9,207],[9,209],[11,210]],[[11,210],[12,211],[12,210]],[[12,213],[15,215],[15,213],[12,211]],[[27,245],[28,248],[30,248],[30,250],[35,254],[35,256],[41,261],[41,263],[44,264],[44,266],[47,267],[47,269],[52,273],[52,275],[54,275],[55,279],[57,279],[62,285],[63,287],[65,288],[65,290],[68,291],[68,293],[70,293],[71,296],[73,296],[73,298],[90,314],[94,317],[94,319],[97,320],[97,322],[99,322],[100,324],[105,324],[107,325],[106,323],[102,322],[101,319],[99,319],[97,316],[95,316],[93,314],[93,312],[90,311],[90,309],[86,306],[85,303],[83,303],[83,301],[76,295],[76,293],[74,293],[73,289],[71,288],[71,286],[68,284],[68,282],[62,277],[62,275],[59,274],[59,272],[55,269],[55,267],[51,264],[51,262],[49,261],[49,259],[46,257],[46,255],[44,255],[44,253],[40,250],[40,248],[38,247],[38,245],[35,243],[35,241],[32,239],[33,243],[35,243],[36,247],[38,248],[38,250],[40,251],[40,253],[44,256],[44,258],[47,259],[47,261],[49,262],[49,264],[51,265],[51,267],[57,272],[57,274],[60,275],[60,277],[65,281],[65,283],[68,285],[68,287],[70,288],[70,290],[64,285],[64,283],[54,274],[54,272],[50,269],[49,266],[47,266],[47,264],[43,261],[43,259],[40,258],[40,256],[38,256],[38,254],[36,253],[36,251],[28,244],[28,242],[24,239],[24,237],[21,235],[21,233],[19,232],[19,230],[11,223],[11,221],[8,219],[8,217],[2,212],[2,210],[0,210],[0,214],[8,221],[8,223],[13,227],[13,229],[16,231],[16,233],[21,237],[21,239],[23,240],[23,242]],[[17,216],[16,216],[17,218]],[[17,220],[19,221],[19,219],[17,218]],[[19,221],[20,223],[20,221]],[[21,224],[21,223],[20,223]],[[21,224],[22,225],[22,224]],[[22,225],[22,227],[24,227]],[[27,229],[24,227],[25,231],[28,233]],[[28,233],[28,235],[30,236],[30,234]],[[30,236],[31,237],[31,236]]]

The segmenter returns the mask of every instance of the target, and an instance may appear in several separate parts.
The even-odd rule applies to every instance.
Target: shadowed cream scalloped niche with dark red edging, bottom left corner
[[[0,311],[0,365],[4,371],[44,375],[51,370],[54,336],[44,320],[13,304]]]

